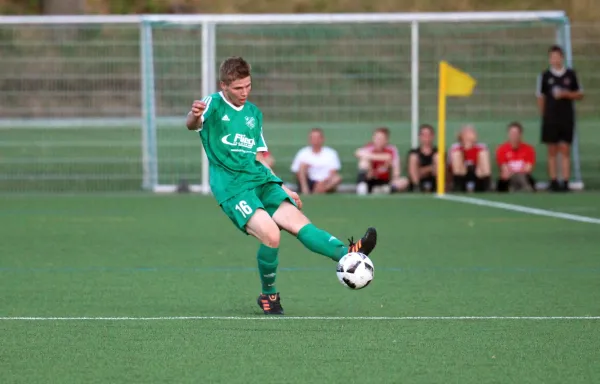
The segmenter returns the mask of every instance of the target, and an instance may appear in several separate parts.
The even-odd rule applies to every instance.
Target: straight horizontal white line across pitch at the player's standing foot
[[[173,320],[242,320],[242,321],[351,321],[351,320],[600,320],[600,316],[165,316],[165,317],[0,317],[0,321],[173,321]]]

